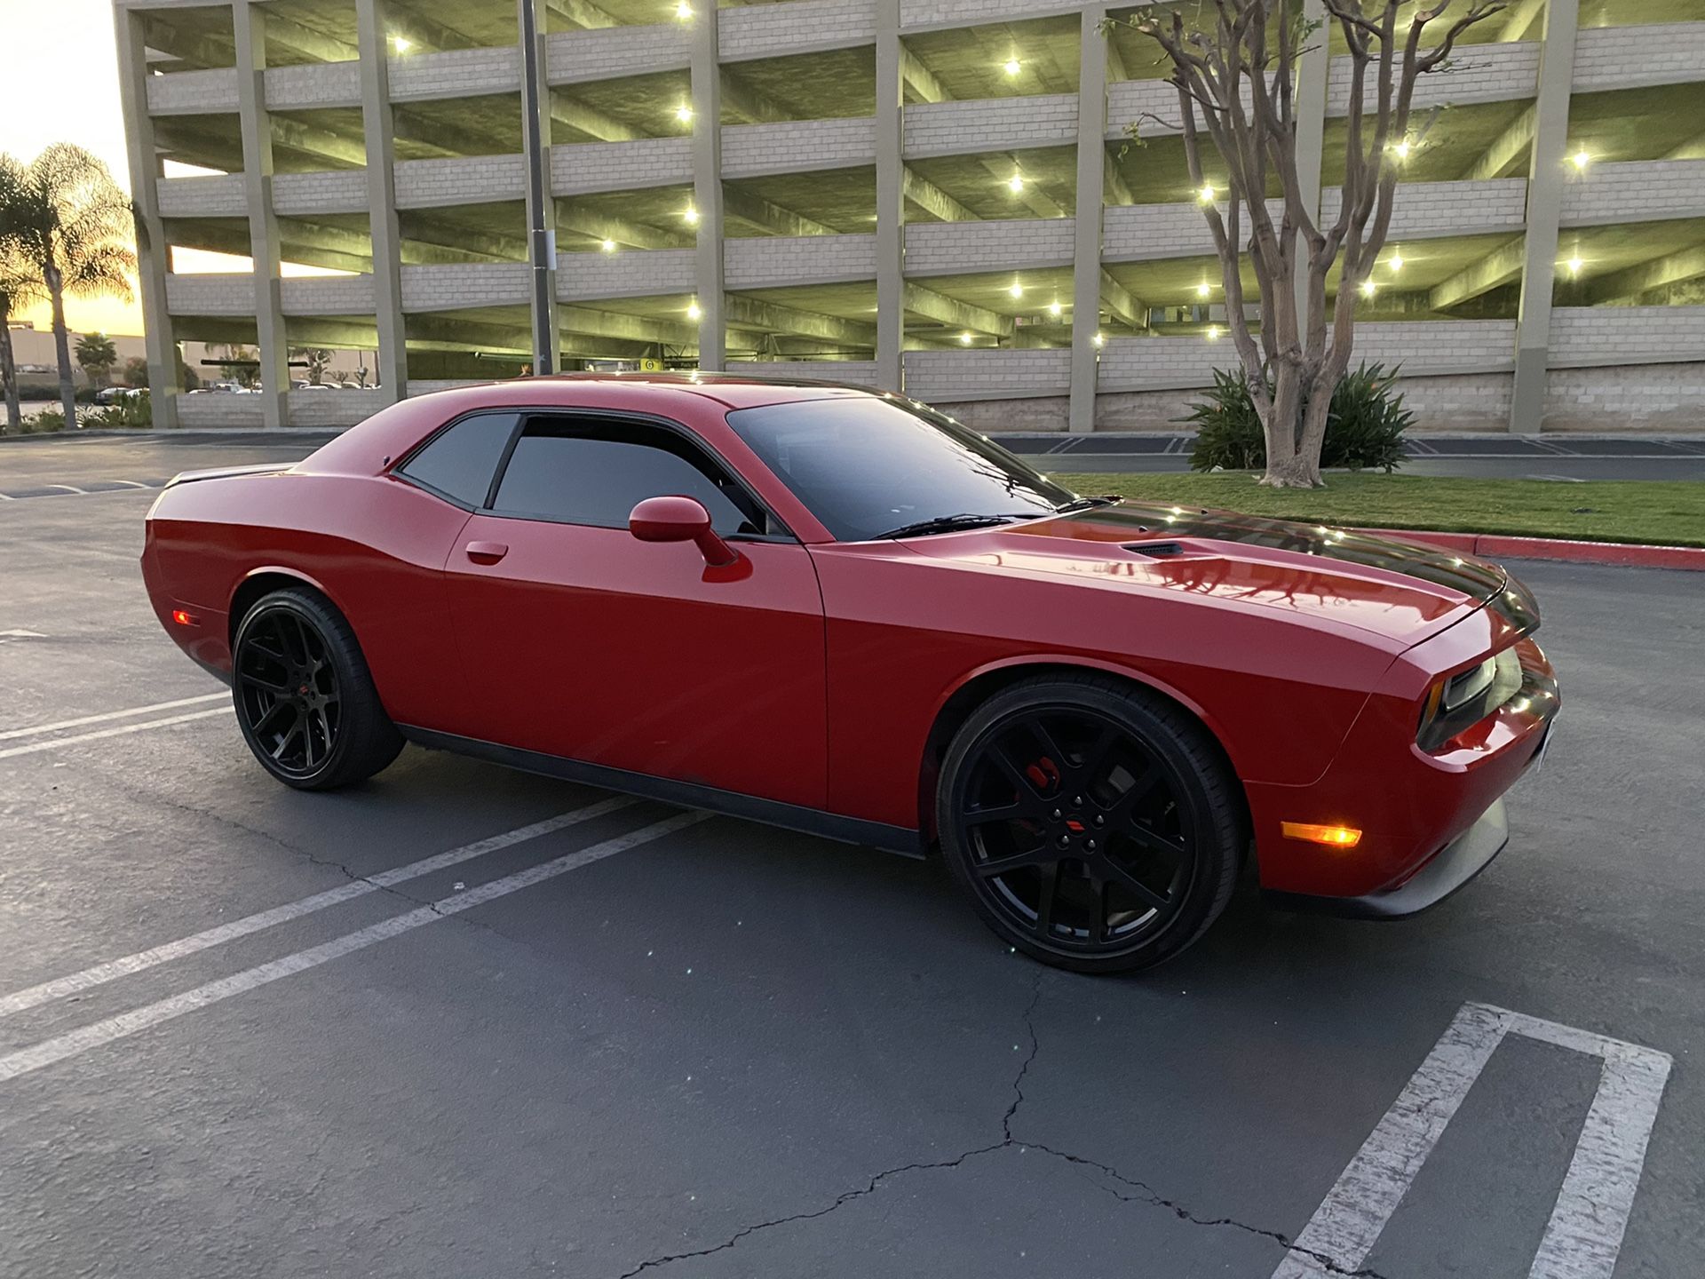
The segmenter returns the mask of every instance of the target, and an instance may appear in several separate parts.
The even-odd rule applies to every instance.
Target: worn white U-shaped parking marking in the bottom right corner
[[[1669,1078],[1669,1054],[1470,1003],[1458,1010],[1326,1192],[1272,1279],[1318,1279],[1362,1265],[1456,1107],[1509,1033],[1604,1059],[1598,1093],[1528,1274],[1529,1279],[1611,1277]],[[1321,1257],[1332,1260],[1332,1270]]]

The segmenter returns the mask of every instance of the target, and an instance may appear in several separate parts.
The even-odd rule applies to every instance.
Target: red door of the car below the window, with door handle
[[[445,566],[471,694],[457,732],[820,808],[817,571],[798,544],[735,546],[713,570],[691,542],[474,515]]]

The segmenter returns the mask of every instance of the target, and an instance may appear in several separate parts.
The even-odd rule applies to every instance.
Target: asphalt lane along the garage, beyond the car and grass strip
[[[179,471],[295,462],[334,431],[138,431],[0,438],[0,501],[160,488]],[[1165,472],[1190,469],[1176,433],[996,435],[1042,471]],[[1705,479],[1705,435],[1419,435],[1405,474],[1502,479]]]

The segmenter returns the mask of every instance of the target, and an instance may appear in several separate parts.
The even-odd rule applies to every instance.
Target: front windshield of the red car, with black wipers
[[[737,409],[728,425],[841,542],[951,517],[1033,518],[1076,498],[922,404],[806,399]]]

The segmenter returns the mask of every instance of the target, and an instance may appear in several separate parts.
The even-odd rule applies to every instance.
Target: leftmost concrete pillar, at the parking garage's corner
[[[153,143],[153,118],[148,114],[148,61],[142,38],[142,14],[135,9],[113,10],[118,36],[119,97],[124,106],[124,136],[130,143],[130,189],[136,206],[136,275],[142,283],[142,326],[148,358],[148,401],[153,425],[177,426],[177,339],[172,314],[165,307],[165,276],[170,251],[165,223],[160,220],[160,157]]]

